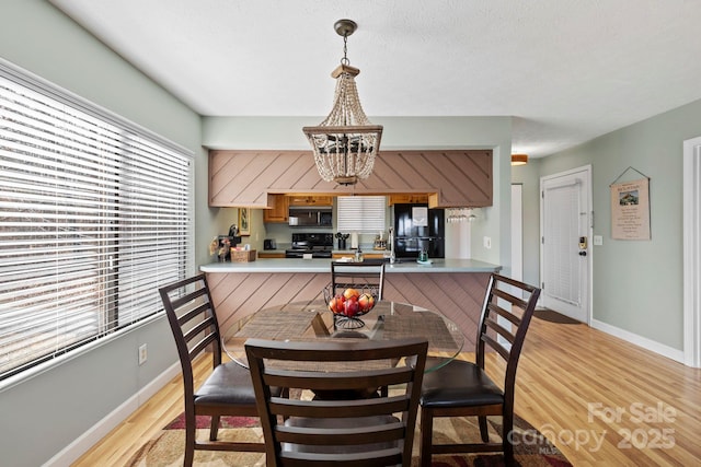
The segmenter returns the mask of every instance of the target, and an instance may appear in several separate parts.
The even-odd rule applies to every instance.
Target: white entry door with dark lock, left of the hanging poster
[[[589,323],[591,167],[540,179],[541,303]]]

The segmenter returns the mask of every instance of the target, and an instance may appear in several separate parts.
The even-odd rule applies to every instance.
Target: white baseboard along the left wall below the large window
[[[71,465],[92,446],[105,437],[112,430],[114,430],[115,427],[134,413],[136,409],[146,404],[146,401],[156,393],[161,390],[168,383],[177,376],[180,372],[180,362],[176,362],[149,384],[143,386],[137,394],[129,397],[110,415],[95,423],[90,430],[80,435],[80,437],[76,439],[76,441],[51,457],[46,464],[44,464],[44,467],[62,467]]]

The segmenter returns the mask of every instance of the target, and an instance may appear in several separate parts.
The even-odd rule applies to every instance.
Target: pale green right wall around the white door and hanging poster
[[[593,246],[593,326],[630,332],[633,341],[675,359],[683,350],[682,143],[701,135],[700,122],[697,101],[533,165],[542,177],[591,164],[594,234],[604,237],[604,245]],[[651,241],[611,238],[609,185],[629,166],[651,178]],[[640,177],[629,171],[621,182]],[[528,201],[529,212],[538,212],[538,198]],[[537,236],[528,242],[538,248]]]

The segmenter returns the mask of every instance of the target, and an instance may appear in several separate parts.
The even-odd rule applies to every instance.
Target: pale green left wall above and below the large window
[[[197,114],[46,1],[2,0],[0,17],[0,58],[185,147],[195,154],[198,186],[206,187]],[[206,200],[206,189],[199,189],[198,222],[209,215]],[[141,343],[148,343],[149,359],[139,366]],[[90,446],[106,431],[96,440],[81,440],[84,433],[111,413],[134,410],[143,401],[136,395],[142,392],[146,397],[158,389],[152,382],[172,372],[176,361],[162,316],[30,372],[28,377],[1,382],[0,464],[35,467],[71,443]],[[59,464],[68,460],[64,457]]]

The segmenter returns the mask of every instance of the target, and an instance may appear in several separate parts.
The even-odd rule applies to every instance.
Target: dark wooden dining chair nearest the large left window
[[[183,373],[185,402],[184,465],[192,466],[194,453],[202,451],[264,452],[263,442],[218,441],[222,416],[257,417],[255,392],[248,369],[222,362],[221,335],[205,275],[159,289],[170,323]],[[195,389],[193,361],[211,348],[212,371]],[[279,389],[274,389],[279,395]],[[196,417],[210,417],[209,440],[197,440]]]

